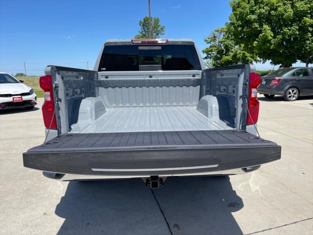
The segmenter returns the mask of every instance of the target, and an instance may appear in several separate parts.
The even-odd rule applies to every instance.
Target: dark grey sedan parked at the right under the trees
[[[313,95],[313,71],[309,67],[276,70],[261,80],[258,93],[267,98],[283,95],[287,101],[294,101],[300,95]]]

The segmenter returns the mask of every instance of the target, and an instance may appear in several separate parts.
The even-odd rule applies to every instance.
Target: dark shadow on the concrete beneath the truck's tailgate
[[[173,234],[240,235],[231,212],[243,207],[229,177],[189,177],[153,191],[141,179],[69,182],[55,213],[65,218],[58,235],[163,235],[168,226]]]

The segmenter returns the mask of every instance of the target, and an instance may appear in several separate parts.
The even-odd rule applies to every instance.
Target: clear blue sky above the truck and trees
[[[151,0],[163,38],[192,38],[200,50],[230,12],[228,0]],[[92,69],[105,40],[134,38],[147,15],[147,0],[0,0],[0,71],[23,72],[24,62],[27,75],[46,65],[86,69],[87,61]]]

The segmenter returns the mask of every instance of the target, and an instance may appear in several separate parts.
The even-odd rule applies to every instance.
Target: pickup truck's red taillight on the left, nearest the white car
[[[45,127],[50,127],[50,129],[56,130],[58,126],[54,115],[52,77],[50,75],[40,77],[39,84],[40,87],[44,90],[45,97],[45,102],[42,107]]]

